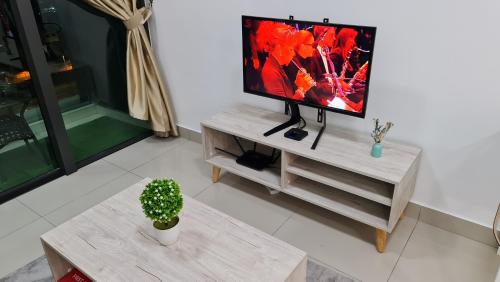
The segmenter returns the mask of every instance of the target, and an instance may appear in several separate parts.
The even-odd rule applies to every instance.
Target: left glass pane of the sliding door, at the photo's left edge
[[[57,169],[11,7],[0,2],[0,193]]]

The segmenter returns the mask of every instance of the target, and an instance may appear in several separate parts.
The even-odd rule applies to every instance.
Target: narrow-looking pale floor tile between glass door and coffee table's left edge
[[[45,219],[54,225],[59,225],[139,181],[141,181],[141,178],[134,174],[126,173],[121,175],[110,183],[105,184],[104,186],[99,187],[96,190],[85,194],[82,197],[79,197],[49,213],[45,216]]]

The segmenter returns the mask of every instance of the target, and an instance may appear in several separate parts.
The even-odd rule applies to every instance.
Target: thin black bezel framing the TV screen
[[[304,101],[297,101],[297,100],[294,100],[294,99],[290,99],[290,98],[286,98],[286,97],[281,97],[281,96],[276,96],[276,95],[273,95],[273,94],[269,94],[269,93],[266,93],[266,92],[262,92],[262,91],[258,91],[258,90],[252,90],[250,88],[247,87],[246,85],[246,73],[245,73],[245,64],[244,64],[244,60],[245,60],[245,51],[244,51],[244,48],[243,48],[243,44],[244,44],[244,37],[243,37],[243,34],[244,34],[244,21],[245,19],[251,19],[251,20],[270,20],[270,21],[277,21],[277,22],[284,22],[286,24],[290,24],[290,23],[301,23],[301,24],[309,24],[309,25],[322,25],[322,26],[332,26],[332,27],[337,27],[337,28],[364,28],[364,29],[372,29],[373,30],[373,45],[372,45],[372,52],[370,52],[370,56],[369,56],[369,64],[368,64],[368,70],[366,72],[366,94],[365,94],[365,102],[363,104],[363,110],[359,113],[357,112],[351,112],[351,111],[346,111],[346,110],[342,110],[342,109],[337,109],[337,108],[332,108],[332,107],[327,107],[327,106],[321,106],[321,105],[316,105],[316,104],[311,104],[311,103],[307,103],[307,102],[304,102]],[[276,100],[281,100],[281,101],[285,101],[285,102],[292,102],[292,103],[296,103],[296,104],[299,104],[299,105],[304,105],[304,106],[308,106],[308,107],[312,107],[312,108],[317,108],[317,109],[324,109],[324,110],[327,110],[327,111],[330,111],[330,112],[335,112],[335,113],[339,113],[339,114],[345,114],[345,115],[349,115],[349,116],[354,116],[354,117],[358,117],[358,118],[365,118],[366,116],[366,106],[368,104],[368,94],[369,94],[369,88],[370,88],[370,77],[371,77],[371,70],[372,70],[372,65],[373,65],[373,53],[374,53],[374,49],[375,49],[375,38],[376,38],[376,33],[377,33],[377,28],[374,27],[374,26],[363,26],[363,25],[350,25],[350,24],[337,24],[337,23],[325,23],[325,22],[313,22],[313,21],[300,21],[300,20],[290,20],[290,19],[278,19],[278,18],[266,18],[266,17],[256,17],[256,16],[246,16],[246,15],[242,15],[241,16],[241,51],[242,51],[242,69],[243,69],[243,92],[245,93],[249,93],[249,94],[254,94],[254,95],[258,95],[258,96],[262,96],[262,97],[266,97],[266,98],[272,98],[272,99],[276,99]]]

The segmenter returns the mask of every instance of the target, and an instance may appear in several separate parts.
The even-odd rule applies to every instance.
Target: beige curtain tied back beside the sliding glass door
[[[165,85],[144,29],[149,8],[137,9],[136,0],[85,0],[123,21],[127,27],[127,96],[132,117],[150,120],[157,136],[177,136],[177,126]]]

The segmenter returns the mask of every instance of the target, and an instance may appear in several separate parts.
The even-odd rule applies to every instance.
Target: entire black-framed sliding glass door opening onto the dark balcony
[[[0,2],[0,202],[151,135],[128,115],[125,41],[81,0]]]

